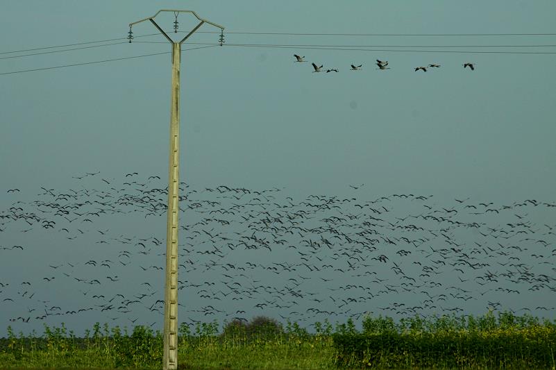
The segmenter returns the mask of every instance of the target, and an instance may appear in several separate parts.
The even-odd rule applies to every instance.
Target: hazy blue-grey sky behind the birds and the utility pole
[[[466,265],[466,274],[471,274],[469,282],[462,282],[463,276],[454,271],[464,267],[432,262],[433,267],[441,270],[438,275],[421,276],[425,284],[455,283],[469,291],[458,294],[473,297],[456,298],[448,295],[445,287],[434,287],[438,294],[444,291],[449,298],[435,304],[444,307],[437,307],[437,312],[450,312],[446,308],[459,307],[464,309],[460,314],[482,314],[489,301],[499,301],[502,308],[519,313],[523,312],[518,310],[525,307],[525,301],[530,303],[531,310],[556,305],[556,299],[547,298],[554,296],[549,294],[550,287],[555,287],[553,280],[539,290],[528,290],[537,284],[536,280],[524,283],[541,274],[551,279],[556,277],[551,268],[554,262],[551,251],[556,246],[552,233],[556,227],[553,207],[556,188],[553,139],[556,136],[556,22],[553,14],[556,4],[553,1],[350,1],[339,5],[337,1],[319,1],[315,5],[309,1],[243,0],[233,4],[216,1],[155,4],[126,0],[117,4],[96,1],[92,5],[56,0],[11,1],[3,6],[0,24],[6,37],[0,40],[0,215],[3,215],[0,219],[0,327],[11,325],[17,330],[40,331],[42,323],[54,325],[64,321],[78,331],[92,327],[96,321],[131,325],[136,318],[134,324],[153,323],[153,328],[162,327],[160,310],[156,310],[160,304],[157,306],[155,302],[163,299],[163,271],[153,266],[164,266],[165,210],[160,204],[149,208],[144,202],[166,202],[160,190],[167,181],[171,56],[165,52],[171,50],[171,45],[162,35],[146,36],[158,32],[150,22],[133,27],[135,38],[131,44],[124,38],[129,23],[150,17],[161,8],[194,10],[199,17],[225,27],[223,47],[210,45],[217,44],[219,34],[207,32],[219,29],[208,24],[199,28],[182,47],[180,181],[187,184],[187,191],[183,185],[183,194],[188,199],[180,202],[183,208],[180,220],[187,228],[180,233],[183,246],[180,260],[185,263],[180,269],[184,284],[180,290],[184,296],[184,301],[180,300],[183,302],[180,321],[250,319],[256,314],[268,314],[282,322],[283,317],[303,319],[303,324],[308,326],[322,317],[344,321],[357,312],[396,316],[396,312],[381,308],[391,308],[394,303],[394,307],[398,303],[408,307],[428,305],[423,303],[428,297],[421,293],[422,289],[405,292],[408,295],[394,294],[384,283],[371,283],[369,276],[361,280],[361,276],[348,277],[335,269],[351,268],[355,262],[350,258],[358,258],[357,274],[365,271],[385,274],[391,285],[400,286],[414,282],[403,278],[402,272],[396,272],[396,264],[407,266],[404,270],[407,277],[419,278],[423,270],[418,263],[430,260],[423,251],[462,249],[440,258],[464,263],[457,262],[458,258],[462,259],[458,253],[471,251],[477,247],[475,242],[500,248],[501,253],[517,253],[513,257],[536,275],[525,274],[520,283],[512,283],[509,276],[498,276],[496,283],[477,285],[477,281],[483,283],[484,279],[479,277],[484,274],[504,274],[506,267],[498,262],[518,263],[518,260],[508,260],[511,254],[494,251],[481,257],[489,259],[491,267]],[[173,31],[171,13],[161,13],[156,21],[166,31]],[[192,15],[181,14],[178,21],[180,32],[196,26]],[[90,43],[83,44],[86,42]],[[78,45],[58,47],[71,44]],[[105,44],[110,45],[99,46]],[[89,48],[62,51],[84,47]],[[203,49],[195,49],[200,47]],[[153,53],[165,54],[98,62]],[[294,54],[304,56],[307,62],[294,62]],[[379,70],[377,59],[387,60],[389,69]],[[98,63],[77,65],[88,62]],[[339,72],[313,73],[312,62]],[[464,69],[467,62],[474,64],[473,71]],[[362,65],[362,69],[351,71],[351,64]],[[429,67],[427,72],[414,70],[430,64],[440,67]],[[75,66],[60,67],[67,65]],[[43,69],[50,67],[60,68]],[[30,69],[43,70],[22,72]],[[144,185],[132,184],[131,180]],[[125,185],[126,182],[131,185]],[[219,192],[216,189],[221,185],[235,190],[220,187],[222,192]],[[19,191],[8,192],[13,189]],[[147,190],[150,192],[146,193]],[[85,203],[87,199],[92,201],[96,193],[110,194],[112,201],[119,199],[110,208],[121,212],[87,213],[88,217],[74,215],[79,219],[69,222],[63,216],[73,217],[56,214],[56,206],[52,204],[60,202],[60,194],[72,194],[73,198],[62,199],[68,202],[64,203],[65,207],[83,203],[78,206],[82,210],[98,212],[108,205],[96,203],[98,208],[94,208]],[[133,204],[124,204],[122,199],[129,194],[141,195],[129,201]],[[142,199],[145,194],[153,199]],[[242,199],[235,199],[234,195]],[[262,195],[267,198],[253,200]],[[329,200],[323,204],[336,204],[339,208],[317,207],[312,203],[317,201],[314,195],[321,196],[319,201]],[[378,200],[382,196],[388,199]],[[417,199],[419,196],[422,198]],[[214,201],[221,205],[210,203]],[[247,203],[242,203],[242,207],[238,203],[234,205],[235,201]],[[257,230],[265,225],[261,220],[270,216],[256,215],[264,207],[253,205],[255,201],[264,202],[264,207],[268,205],[267,212],[279,212],[278,205],[273,203],[288,205],[288,201],[291,205],[282,208],[282,214],[294,215],[299,210],[313,212],[314,219],[296,216],[303,218],[298,221],[305,223],[305,230],[313,228],[313,231],[286,233],[287,244],[298,249],[285,248],[285,244],[276,242],[284,239],[283,234],[272,237]],[[361,206],[371,201],[376,203]],[[493,204],[480,205],[490,202]],[[206,210],[192,206],[195,203],[203,204]],[[371,205],[379,212],[384,206],[384,212],[369,210]],[[12,207],[22,210],[10,210]],[[195,225],[203,217],[221,214],[218,209],[232,207],[235,215],[226,215],[230,224]],[[81,213],[77,208],[66,210]],[[437,213],[429,213],[435,210]],[[203,213],[211,211],[212,214]],[[339,211],[343,213],[337,214]],[[21,218],[22,212],[27,216],[33,213],[37,219],[28,225]],[[149,212],[153,215],[147,215]],[[482,213],[472,214],[478,212]],[[362,215],[350,219],[344,214]],[[422,216],[410,218],[412,222],[400,220],[419,214]],[[253,219],[241,224],[242,215],[252,215]],[[380,225],[361,226],[362,218],[369,215],[382,218],[377,221]],[[329,219],[331,216],[347,217],[347,221],[337,224]],[[451,229],[454,224],[446,225],[446,221],[439,222],[430,216],[455,217],[454,221],[468,226]],[[85,217],[92,218],[92,222],[83,221]],[[55,226],[45,228],[48,220],[55,221]],[[480,227],[469,226],[473,222]],[[520,222],[523,225],[516,226]],[[424,230],[399,227],[407,223]],[[278,225],[277,221],[273,224]],[[380,235],[380,243],[373,245],[376,250],[353,252],[355,237],[340,239],[336,234],[334,249],[330,249],[322,238],[332,241],[334,233],[320,229],[323,225],[332,225],[332,230],[346,235],[356,233],[361,227],[374,228]],[[515,234],[520,227],[523,233]],[[218,247],[223,251],[222,256],[199,253],[214,247],[210,246],[214,238],[211,242],[203,229],[212,234],[223,233],[231,239]],[[108,231],[104,235],[99,230]],[[407,230],[413,237],[402,233]],[[241,237],[252,237],[254,231],[260,233],[260,238],[273,239],[270,249],[226,247],[228,242],[237,245],[245,241]],[[489,236],[482,236],[479,231]],[[498,239],[500,233],[512,232],[513,239]],[[523,234],[530,235],[523,237]],[[68,239],[74,236],[75,239]],[[137,243],[145,244],[140,239],[151,237],[162,242],[149,239],[146,244],[151,243],[153,249],[147,253],[149,248]],[[397,244],[394,246],[381,237],[396,238]],[[413,241],[410,245],[415,251],[407,257],[403,252],[396,253],[399,251],[395,248],[400,249],[400,244],[405,243],[402,237]],[[303,246],[303,239],[310,239],[309,246]],[[415,242],[417,239],[423,240]],[[314,258],[313,253],[310,257],[299,253],[310,253],[305,249],[310,251],[311,242],[319,241],[326,251],[318,249],[320,254],[315,253]],[[187,246],[185,242],[193,245]],[[251,242],[261,246],[256,238]],[[368,240],[362,243],[367,246],[357,245],[369,246]],[[14,246],[22,246],[23,250]],[[124,251],[129,251],[130,257],[121,257]],[[346,254],[335,259],[333,253],[342,255],[342,251]],[[389,260],[373,260],[376,268],[359,265],[368,262],[361,259],[380,255],[387,255]],[[543,257],[539,259],[537,255]],[[185,262],[188,256],[192,256],[191,263]],[[301,264],[301,257],[321,271],[298,266],[295,271],[277,274],[268,269],[275,262]],[[101,268],[105,258],[114,263]],[[97,267],[85,265],[89,260],[98,262]],[[246,276],[239,276],[244,273],[226,267],[226,263],[235,266],[246,260],[257,264],[252,270],[247,266]],[[322,267],[328,262],[333,266],[330,271]],[[203,265],[211,263],[224,264],[224,267]],[[230,275],[226,268],[234,274]],[[355,274],[355,270],[352,272]],[[85,274],[79,278],[86,281],[75,280],[78,273]],[[232,276],[224,280],[228,285],[222,283],[221,274]],[[299,278],[298,274],[308,279]],[[118,281],[107,280],[107,276]],[[55,280],[44,280],[51,277]],[[91,283],[95,278],[101,280],[100,285]],[[288,284],[296,282],[288,278],[301,279],[302,285],[293,288]],[[332,280],[326,281],[329,279]],[[256,280],[260,283],[253,283]],[[352,296],[346,285],[355,284],[355,280],[357,285],[375,289],[373,292],[380,297],[364,302],[348,301],[339,308],[342,299]],[[188,285],[205,281],[208,285],[203,287]],[[211,281],[214,286],[210,285]],[[22,285],[25,282],[30,285]],[[155,293],[141,298],[140,303],[129,303],[146,287],[140,286],[140,282],[151,284]],[[229,287],[233,282],[264,287],[239,294]],[[270,292],[274,286],[282,289],[279,294],[276,290]],[[126,287],[128,292],[124,292]],[[292,296],[292,290],[287,287],[312,294],[302,297],[298,292]],[[342,287],[342,292],[328,290],[338,287]],[[481,294],[488,287],[493,292]],[[520,289],[519,294],[523,295],[496,291],[498,288]],[[202,289],[208,292],[199,292]],[[224,296],[228,294],[226,289],[229,296]],[[387,293],[378,294],[381,289]],[[37,295],[28,298],[33,292]],[[204,294],[212,298],[201,297]],[[367,289],[353,294],[356,298],[364,296]],[[524,300],[525,294],[528,298]],[[100,295],[105,297],[98,298]],[[115,297],[113,302],[120,304],[110,308],[108,301],[112,297]],[[276,303],[269,302],[256,307],[264,299],[269,302],[284,299],[289,302],[283,303],[288,308],[276,308]],[[127,308],[118,310],[122,305]],[[207,314],[208,305],[222,312]],[[93,309],[65,313],[79,308]],[[108,309],[102,311],[105,308]],[[317,308],[337,314],[321,313],[316,318],[308,318],[308,314],[315,313],[312,309]],[[294,310],[301,314],[291,314]],[[423,314],[434,311],[419,310]],[[60,312],[65,314],[57,314]],[[553,309],[533,312],[555,318]],[[42,314],[46,316],[37,319]],[[28,322],[24,322],[27,318]]]

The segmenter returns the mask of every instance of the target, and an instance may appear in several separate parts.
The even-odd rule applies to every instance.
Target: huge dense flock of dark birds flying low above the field
[[[1,318],[22,328],[99,316],[161,322],[167,187],[160,176],[138,176],[87,173],[73,189],[42,187],[37,199],[4,191]],[[555,310],[546,297],[556,292],[556,203],[364,200],[364,184],[350,186],[351,196],[296,201],[278,188],[180,183],[180,320],[426,317],[462,313],[463,302],[480,314]],[[24,256],[32,274],[17,267]]]

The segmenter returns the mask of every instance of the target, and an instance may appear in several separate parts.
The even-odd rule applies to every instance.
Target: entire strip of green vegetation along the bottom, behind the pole
[[[192,330],[193,329],[193,330]],[[365,317],[362,331],[351,319],[314,323],[314,333],[297,323],[268,317],[250,322],[182,323],[180,369],[556,369],[556,321],[511,313],[484,317],[414,317],[395,323]],[[162,335],[145,326],[132,333],[94,325],[78,338],[62,324],[44,335],[0,339],[2,368],[160,369]]]

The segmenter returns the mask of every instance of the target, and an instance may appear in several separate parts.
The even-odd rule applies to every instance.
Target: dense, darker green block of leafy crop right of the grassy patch
[[[366,317],[362,333],[348,326],[332,335],[337,367],[373,369],[442,367],[457,369],[553,369],[556,328],[545,320],[490,310],[483,317]]]

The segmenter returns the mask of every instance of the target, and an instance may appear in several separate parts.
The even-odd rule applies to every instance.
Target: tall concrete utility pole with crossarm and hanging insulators
[[[162,28],[156,24],[154,17],[160,12],[174,12],[176,21],[174,22],[174,31],[178,32],[178,13],[192,13],[199,21],[201,21],[187,36],[183,37],[180,42],[174,42]],[[174,370],[178,369],[178,214],[180,188],[180,61],[181,61],[181,44],[187,40],[195,31],[203,25],[203,23],[212,24],[221,29],[220,44],[224,42],[224,27],[208,22],[200,18],[192,10],[159,10],[155,15],[149,18],[129,24],[129,42],[133,39],[131,27],[134,24],[151,21],[158,31],[165,35],[172,44],[172,87],[171,87],[171,105],[170,105],[170,161],[169,161],[169,180],[168,180],[168,218],[166,229],[166,278],[165,278],[165,296],[164,296],[164,358],[162,369]]]

